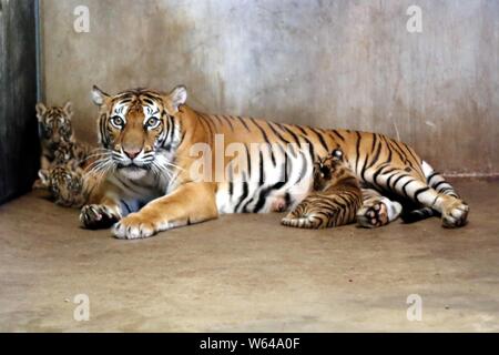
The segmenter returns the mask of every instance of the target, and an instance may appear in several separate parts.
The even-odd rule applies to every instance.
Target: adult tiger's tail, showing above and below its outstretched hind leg
[[[422,172],[425,173],[426,182],[428,186],[436,190],[438,193],[449,195],[459,199],[459,194],[456,192],[454,186],[446,181],[446,179],[438,172],[436,172],[430,164],[422,162]],[[405,223],[414,223],[422,221],[432,216],[440,216],[440,213],[431,207],[421,207],[406,213],[403,212],[400,215]]]

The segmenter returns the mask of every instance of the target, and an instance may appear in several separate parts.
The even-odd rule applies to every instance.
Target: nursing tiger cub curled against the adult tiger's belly
[[[314,187],[282,224],[301,229],[326,229],[356,221],[363,204],[357,178],[340,150],[314,163]]]

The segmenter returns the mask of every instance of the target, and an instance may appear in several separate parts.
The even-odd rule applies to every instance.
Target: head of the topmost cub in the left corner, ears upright
[[[72,116],[71,102],[67,102],[63,106],[51,108],[47,108],[42,102],[37,103],[42,144],[54,151],[61,142],[73,141]]]

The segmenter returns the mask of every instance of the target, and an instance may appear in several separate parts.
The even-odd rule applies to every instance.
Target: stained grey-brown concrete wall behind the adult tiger
[[[208,112],[384,132],[447,173],[499,171],[499,1],[41,1],[47,100],[71,99],[86,140],[93,83],[184,83]]]

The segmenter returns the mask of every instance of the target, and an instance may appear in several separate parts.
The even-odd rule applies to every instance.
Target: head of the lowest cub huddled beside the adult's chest
[[[83,171],[74,166],[58,165],[40,170],[38,175],[55,204],[64,207],[81,207],[85,201]]]

